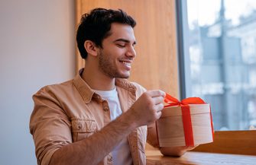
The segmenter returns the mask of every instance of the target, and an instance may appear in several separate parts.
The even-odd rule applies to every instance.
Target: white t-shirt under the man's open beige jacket
[[[122,109],[118,99],[118,92],[114,90],[94,90],[96,94],[107,100],[110,109],[111,121],[122,114]],[[124,138],[112,151],[113,165],[131,165],[131,151],[128,144],[128,138]]]

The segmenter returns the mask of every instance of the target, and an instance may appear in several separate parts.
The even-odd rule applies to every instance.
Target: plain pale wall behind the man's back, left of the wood
[[[0,0],[0,164],[34,165],[32,94],[75,75],[73,0]]]

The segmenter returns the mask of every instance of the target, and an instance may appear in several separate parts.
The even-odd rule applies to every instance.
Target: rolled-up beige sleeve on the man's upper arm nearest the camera
[[[72,143],[71,123],[49,87],[34,94],[30,132],[34,138],[37,164],[48,165],[57,149]]]

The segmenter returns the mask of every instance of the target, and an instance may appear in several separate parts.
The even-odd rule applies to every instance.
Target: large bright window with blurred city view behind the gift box
[[[215,130],[253,129],[256,1],[183,0],[177,8],[181,97],[210,103]]]

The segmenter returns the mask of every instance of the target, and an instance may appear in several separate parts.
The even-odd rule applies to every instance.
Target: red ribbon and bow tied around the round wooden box
[[[168,103],[168,105],[164,107],[181,106],[182,119],[183,119],[183,131],[185,135],[186,146],[194,146],[193,129],[192,129],[189,104],[204,104],[205,102],[199,97],[189,97],[179,101],[177,100],[177,98],[170,96],[170,94],[166,94],[164,98],[164,102]],[[211,117],[211,126],[212,126],[211,110],[210,110],[210,117]],[[212,126],[212,139],[213,139],[213,126]]]

